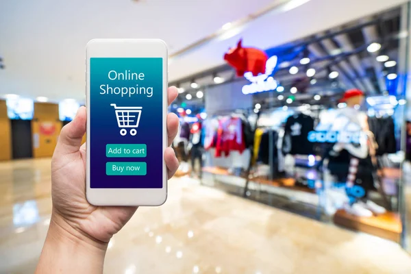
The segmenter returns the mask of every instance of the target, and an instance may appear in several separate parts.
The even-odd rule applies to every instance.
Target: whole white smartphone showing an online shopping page
[[[166,201],[167,46],[95,39],[86,46],[86,197],[95,206]]]

